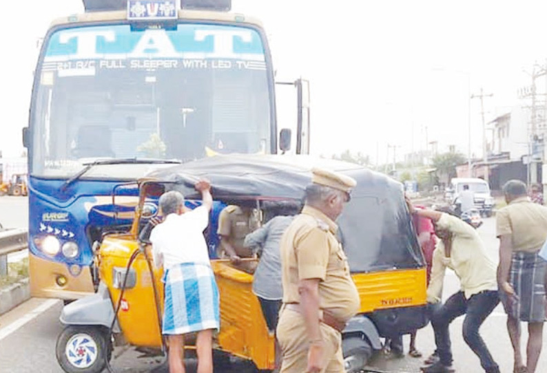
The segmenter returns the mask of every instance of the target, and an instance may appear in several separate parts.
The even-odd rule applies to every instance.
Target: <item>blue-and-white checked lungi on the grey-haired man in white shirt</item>
[[[218,329],[218,288],[209,264],[183,263],[166,270],[163,334]]]

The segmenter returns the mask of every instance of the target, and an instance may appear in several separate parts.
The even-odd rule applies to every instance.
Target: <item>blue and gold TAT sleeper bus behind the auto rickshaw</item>
[[[307,81],[291,83],[296,131],[279,130],[265,31],[230,0],[83,4],[45,34],[23,129],[34,297],[94,292],[94,248],[129,230],[147,173],[218,153],[285,152],[291,136],[291,151],[309,151]]]

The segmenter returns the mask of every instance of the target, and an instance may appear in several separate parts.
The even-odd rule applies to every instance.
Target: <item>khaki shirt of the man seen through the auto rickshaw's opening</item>
[[[243,243],[245,236],[259,226],[260,222],[253,209],[243,211],[239,206],[229,205],[220,212],[217,234],[227,237],[229,244],[240,257],[251,257],[251,248],[246,248]]]

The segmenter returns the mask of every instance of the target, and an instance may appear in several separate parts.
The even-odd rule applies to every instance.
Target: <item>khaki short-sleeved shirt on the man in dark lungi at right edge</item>
[[[496,213],[496,235],[511,235],[513,251],[536,253],[547,238],[547,207],[517,198]]]

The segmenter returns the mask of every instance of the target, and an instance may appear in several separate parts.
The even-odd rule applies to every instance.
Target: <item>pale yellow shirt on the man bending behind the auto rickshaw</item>
[[[460,278],[467,299],[484,290],[497,290],[496,264],[488,257],[484,243],[475,228],[446,213],[442,214],[437,226],[452,233],[452,248],[450,257],[446,257],[442,239],[437,241],[433,251],[427,301],[437,303],[441,300],[446,268],[454,270]]]

